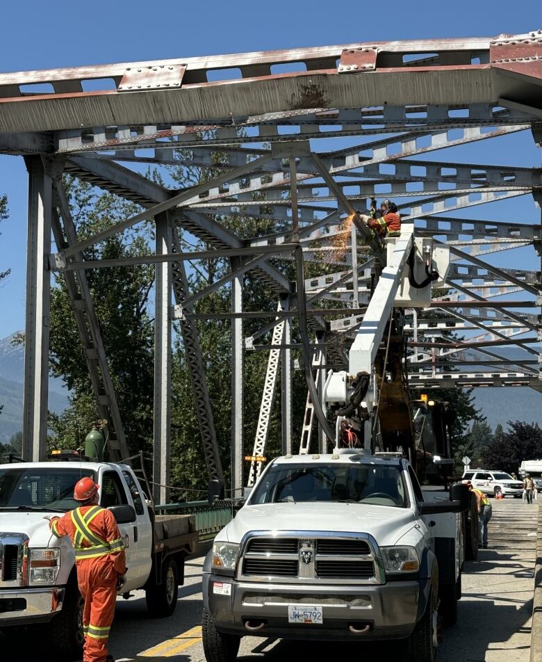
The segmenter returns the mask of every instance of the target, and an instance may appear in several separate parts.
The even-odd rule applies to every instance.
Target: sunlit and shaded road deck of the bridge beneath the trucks
[[[542,503],[542,500],[541,500]],[[532,613],[534,548],[538,506],[516,499],[493,500],[489,526],[489,549],[463,569],[463,598],[458,621],[442,632],[438,662],[527,662],[529,659]],[[179,606],[174,617],[151,620],[145,597],[117,602],[110,652],[117,661],[199,662],[204,660],[201,640],[203,558],[188,561],[186,584],[179,589]],[[37,642],[38,639],[36,638]],[[28,638],[0,635],[3,662],[46,662],[54,655],[36,656],[24,649]],[[284,659],[356,659],[361,645],[286,643],[247,637],[239,659],[243,662],[284,661]],[[367,654],[393,654],[397,645],[364,645]]]

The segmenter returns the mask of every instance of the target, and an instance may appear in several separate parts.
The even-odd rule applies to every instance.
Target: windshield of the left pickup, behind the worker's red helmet
[[[56,467],[0,469],[0,509],[72,510],[79,504],[74,499],[77,481],[88,476],[90,469]]]

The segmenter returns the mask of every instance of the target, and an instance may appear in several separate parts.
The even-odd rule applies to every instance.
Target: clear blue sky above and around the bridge
[[[524,0],[518,6],[502,0],[442,4],[26,0],[3,3],[1,20],[0,70],[10,72],[370,40],[525,33],[542,28],[542,10],[540,0]],[[461,152],[454,151],[453,159],[539,166],[540,150],[525,134],[500,138],[492,145],[463,147]],[[10,220],[0,226],[0,271],[11,267],[13,273],[0,288],[0,338],[24,327],[26,171],[22,159],[0,156],[1,193],[8,195]],[[500,209],[502,220],[540,220],[530,197],[502,204]],[[491,206],[484,205],[469,211],[468,217],[497,220]],[[495,264],[505,264],[506,259],[505,254]],[[527,263],[508,266],[539,268],[532,250],[525,259]]]

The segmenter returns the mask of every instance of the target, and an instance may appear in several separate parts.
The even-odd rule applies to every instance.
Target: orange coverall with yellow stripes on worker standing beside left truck
[[[106,662],[117,579],[126,572],[117,520],[101,506],[79,506],[63,517],[54,517],[49,526],[58,538],[69,535],[74,545],[77,583],[85,600],[83,662]]]

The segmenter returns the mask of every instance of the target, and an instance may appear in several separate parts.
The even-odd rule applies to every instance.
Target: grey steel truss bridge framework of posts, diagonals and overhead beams
[[[212,478],[223,474],[199,349],[202,317],[231,319],[231,487],[243,485],[247,351],[269,353],[254,455],[265,452],[279,381],[283,446],[292,450],[290,354],[299,348],[293,322],[316,389],[307,398],[302,445],[308,448],[316,391],[321,394],[327,370],[347,367],[384,261],[359,218],[372,196],[393,198],[417,234],[452,253],[448,289],[431,304],[438,318],[406,311],[411,386],[541,390],[535,346],[541,273],[516,268],[521,263],[511,252],[532,248],[540,255],[541,169],[455,162],[450,151],[438,160],[445,148],[520,132],[530,134],[536,154],[541,85],[540,30],[0,74],[0,152],[24,157],[29,182],[24,456],[38,460],[45,449],[51,271],[65,277],[99,413],[109,421],[110,455],[129,456],[85,273],[142,262],[156,264],[154,481],[169,484],[174,318]],[[216,176],[172,191],[139,174],[147,164],[210,168]],[[65,172],[142,211],[82,241],[63,189]],[[493,220],[502,218],[498,207],[523,195],[533,198],[532,213]],[[487,220],[470,218],[471,208],[486,203]],[[233,234],[225,216],[250,219],[247,227],[256,228],[271,221],[277,231]],[[156,225],[153,255],[85,259],[90,245],[145,220]],[[183,251],[181,232],[208,250]],[[510,268],[487,261],[503,251]],[[190,291],[187,261],[218,257],[229,259],[229,274]],[[288,261],[295,281],[281,268]],[[321,275],[306,277],[304,264]],[[275,293],[276,312],[244,307],[247,275]],[[195,314],[197,300],[224,286],[231,289],[230,314]],[[243,332],[247,318],[261,321],[251,337]],[[466,339],[450,339],[450,331]],[[499,349],[509,346],[522,357],[503,357]],[[323,449],[322,430],[318,437]],[[253,463],[252,477],[257,468]],[[164,487],[156,498],[166,501]]]

